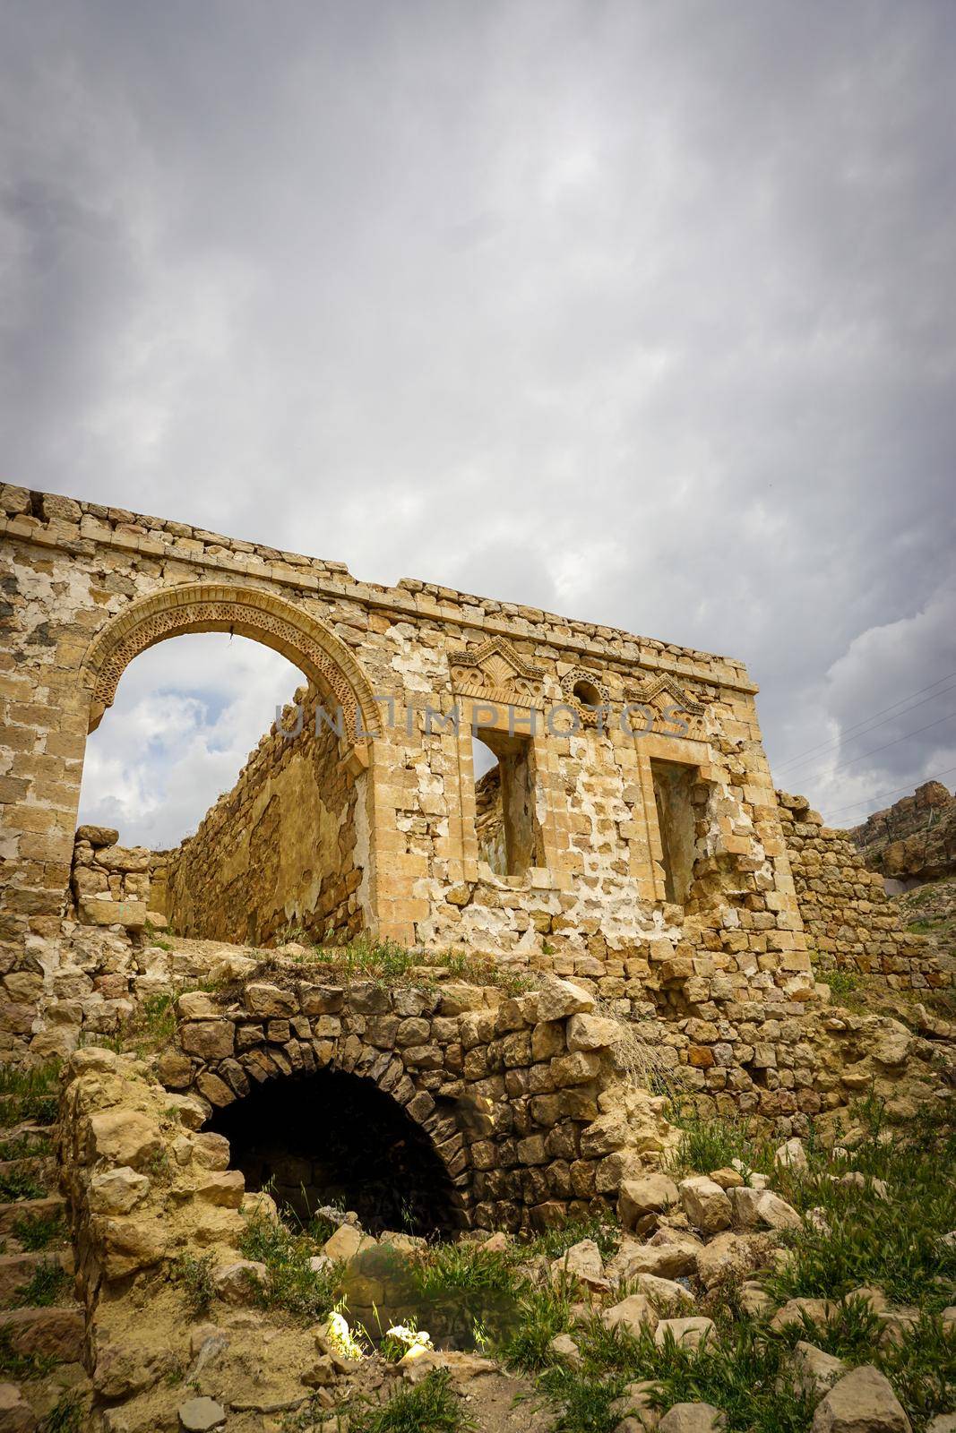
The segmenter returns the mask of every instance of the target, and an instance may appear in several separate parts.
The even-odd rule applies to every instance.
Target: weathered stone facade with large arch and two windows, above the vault
[[[808,944],[844,937],[824,930],[817,827],[778,805],[740,662],[53,494],[6,487],[0,506],[3,1048],[70,1049],[109,1023],[83,982],[122,1005],[146,972],[133,946],[122,974],[87,974],[83,921],[112,901],[136,931],[152,904],[179,934],[363,930],[583,980],[701,1096],[775,1121],[821,1108],[794,1046],[821,999]],[[85,737],[125,666],[212,629],[300,666],[284,727],[301,731],[264,737],[168,858],[75,844]],[[473,727],[499,758],[494,792],[476,788]],[[857,874],[838,897],[860,917]],[[854,941],[880,934],[892,983],[949,983],[880,920]]]

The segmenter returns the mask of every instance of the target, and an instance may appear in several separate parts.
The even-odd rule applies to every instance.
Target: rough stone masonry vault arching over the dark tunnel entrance
[[[664,1102],[622,1089],[616,1022],[583,989],[325,984],[285,969],[222,996],[181,996],[169,1089],[225,1106],[254,1085],[314,1069],[374,1082],[441,1162],[463,1224],[523,1228],[616,1198],[674,1139]]]

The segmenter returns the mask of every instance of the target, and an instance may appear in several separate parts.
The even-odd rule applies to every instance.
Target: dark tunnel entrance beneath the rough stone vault
[[[460,1227],[429,1136],[371,1080],[341,1070],[271,1079],[206,1129],[225,1135],[249,1191],[269,1185],[301,1219],[322,1204],[354,1209],[370,1234],[443,1234]]]

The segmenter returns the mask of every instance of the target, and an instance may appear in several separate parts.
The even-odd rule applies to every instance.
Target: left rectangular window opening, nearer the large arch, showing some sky
[[[482,728],[482,737],[472,738],[472,754],[479,860],[496,876],[526,876],[545,864],[533,742],[527,735]]]

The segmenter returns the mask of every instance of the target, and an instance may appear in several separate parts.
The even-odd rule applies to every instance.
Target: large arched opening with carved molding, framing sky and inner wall
[[[258,729],[238,732],[235,722],[226,722],[226,729],[204,742],[208,732],[195,729],[195,708],[209,706],[218,719],[221,694],[209,689],[208,674],[195,676],[196,663],[183,648],[222,643],[235,653],[252,645],[245,638],[271,672],[261,692],[245,692],[238,702],[244,718],[258,711]],[[169,679],[181,653],[193,676]],[[142,749],[138,765],[123,771],[110,762],[109,741],[100,735],[115,729],[115,716],[123,716],[122,699],[103,728],[100,721],[138,659],[165,665],[171,699],[146,704],[146,709],[140,704]],[[277,671],[284,672],[281,681]],[[302,676],[308,686],[295,691]],[[90,645],[82,682],[90,692],[90,729],[96,732],[89,777],[97,787],[90,800],[90,781],[85,781],[72,861],[70,896],[82,921],[129,930],[168,926],[181,936],[255,946],[290,937],[345,941],[373,924],[374,833],[364,737],[377,729],[377,712],[354,656],[321,623],[261,592],[171,589],[113,619]],[[297,705],[277,727],[277,705],[294,691]],[[179,830],[158,820],[150,834],[140,820],[149,804],[140,791],[155,795],[150,757],[162,747],[163,722],[168,728],[171,714],[182,718],[189,706],[186,738],[193,749],[186,752],[191,759],[178,762],[173,792],[178,817],[185,820]],[[226,716],[235,711],[236,702]],[[235,765],[229,752],[236,752]],[[115,815],[122,814],[123,801],[116,800],[115,785],[110,791],[110,780],[125,787],[136,807],[129,818],[130,802],[125,802],[129,820],[122,824]],[[208,810],[204,788],[212,802]],[[185,838],[178,841],[179,835]]]

